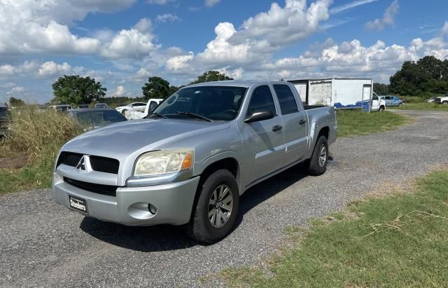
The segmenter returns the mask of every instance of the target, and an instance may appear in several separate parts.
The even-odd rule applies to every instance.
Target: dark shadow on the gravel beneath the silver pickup
[[[303,167],[297,165],[248,189],[241,196],[239,215],[234,230],[243,221],[244,214],[253,207],[306,177],[307,174],[303,171]],[[94,238],[111,245],[140,252],[168,251],[201,245],[188,238],[185,230],[177,226],[132,227],[85,217],[80,228]]]

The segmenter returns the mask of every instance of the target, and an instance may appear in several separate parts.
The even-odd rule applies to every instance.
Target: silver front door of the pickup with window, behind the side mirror
[[[271,111],[274,117],[244,123],[241,127],[246,167],[251,170],[248,173],[248,184],[283,167],[285,156],[283,122],[268,85],[260,85],[252,92],[245,114],[249,116],[256,111]]]

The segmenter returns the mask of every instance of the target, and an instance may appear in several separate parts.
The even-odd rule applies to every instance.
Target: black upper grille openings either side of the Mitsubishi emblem
[[[76,167],[79,160],[83,157],[83,154],[73,152],[62,152],[57,159],[57,166],[64,164],[71,167]],[[92,170],[99,172],[106,172],[111,174],[118,174],[118,168],[120,167],[120,161],[113,158],[106,158],[100,156],[89,156],[90,165]]]

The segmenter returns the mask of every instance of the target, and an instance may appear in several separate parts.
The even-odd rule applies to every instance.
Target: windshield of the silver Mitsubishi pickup
[[[197,114],[213,121],[231,121],[238,115],[246,90],[232,86],[183,88],[169,96],[153,113],[166,118],[193,119],[192,114]]]

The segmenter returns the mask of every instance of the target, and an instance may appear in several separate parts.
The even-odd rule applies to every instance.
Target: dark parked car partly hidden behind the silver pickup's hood
[[[95,109],[83,108],[69,111],[69,117],[79,123],[85,130],[103,127],[113,123],[127,121],[127,119],[118,113],[115,109]]]

